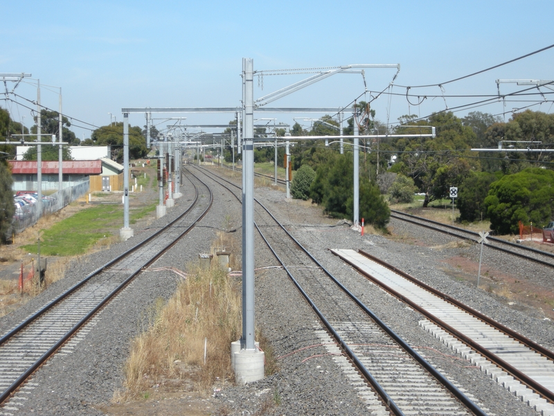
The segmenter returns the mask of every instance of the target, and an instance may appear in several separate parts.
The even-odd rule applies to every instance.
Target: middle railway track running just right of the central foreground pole
[[[240,200],[240,187],[205,169],[202,172]],[[322,344],[330,354],[343,352],[348,356],[348,361],[343,355],[336,361],[351,382],[358,384],[359,397],[368,410],[377,415],[485,415],[325,270],[267,208],[256,202],[255,225],[260,236],[323,323],[325,331],[318,331]],[[320,325],[314,322],[314,328],[321,328]],[[356,371],[350,369],[352,364]],[[363,374],[378,397],[362,383],[357,372]]]

